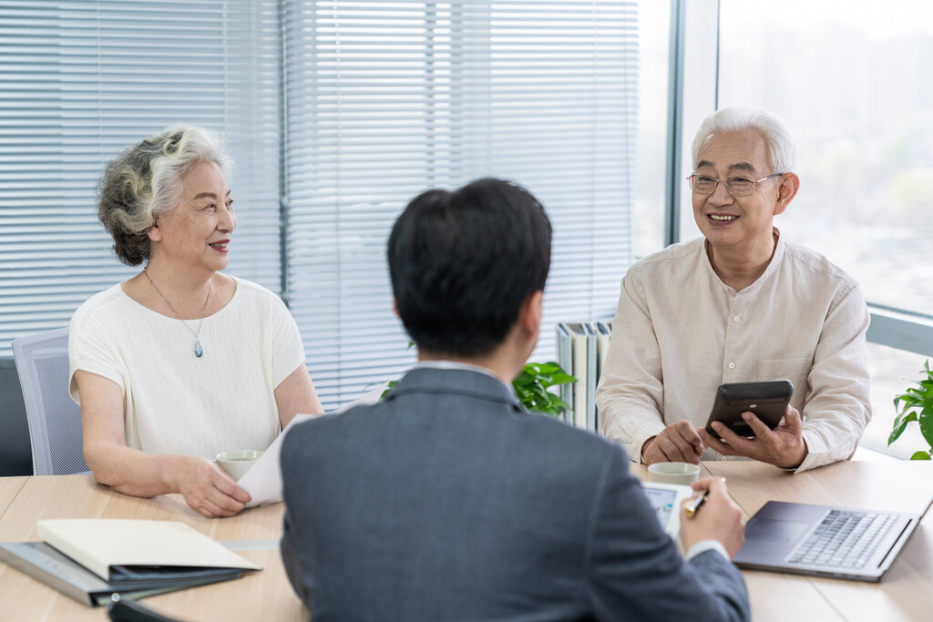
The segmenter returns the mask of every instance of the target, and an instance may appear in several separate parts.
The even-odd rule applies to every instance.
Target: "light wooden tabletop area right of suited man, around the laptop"
[[[799,475],[764,463],[702,463],[701,477],[725,477],[751,518],[768,501],[796,501],[923,513],[933,498],[933,463],[852,461]],[[634,472],[647,477],[644,465]],[[743,571],[755,622],[918,622],[933,619],[933,511],[881,583]]]

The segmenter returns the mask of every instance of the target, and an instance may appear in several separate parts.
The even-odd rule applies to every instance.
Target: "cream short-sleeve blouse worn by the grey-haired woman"
[[[71,395],[78,369],[123,390],[126,444],[150,454],[214,458],[230,449],[266,449],[279,434],[275,387],[304,365],[298,326],[282,300],[236,279],[226,307],[195,337],[181,320],[127,296],[119,284],[96,294],[71,319]],[[200,320],[188,321],[198,330]]]

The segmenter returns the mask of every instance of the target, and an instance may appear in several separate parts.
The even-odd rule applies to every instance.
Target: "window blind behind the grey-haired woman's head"
[[[275,0],[0,5],[0,356],[138,270],[113,255],[95,187],[174,123],[228,136],[230,273],[279,291],[278,17]]]

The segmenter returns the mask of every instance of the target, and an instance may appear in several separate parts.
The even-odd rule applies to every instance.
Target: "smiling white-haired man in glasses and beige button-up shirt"
[[[787,125],[723,108],[693,141],[693,216],[703,238],[645,257],[622,279],[596,395],[600,432],[645,463],[745,457],[800,472],[845,460],[871,418],[858,284],[773,226],[800,187]],[[717,386],[791,380],[774,429],[703,426]]]

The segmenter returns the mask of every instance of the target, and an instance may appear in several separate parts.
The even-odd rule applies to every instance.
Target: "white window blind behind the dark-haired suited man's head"
[[[528,187],[553,325],[611,317],[632,263],[634,2],[285,0],[285,295],[326,408],[411,364],[385,242],[428,187]]]

